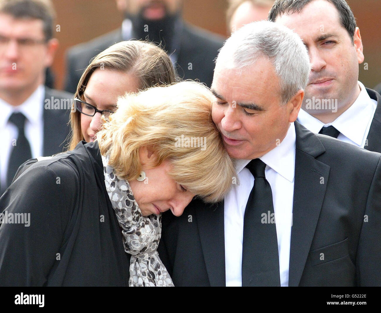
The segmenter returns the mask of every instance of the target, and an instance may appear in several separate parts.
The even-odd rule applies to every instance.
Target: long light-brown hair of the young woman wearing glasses
[[[176,70],[170,57],[153,43],[129,40],[110,46],[99,53],[83,72],[74,97],[84,101],[83,93],[94,70],[110,69],[133,75],[138,80],[139,89],[155,85],[169,85],[177,81]],[[78,142],[84,140],[81,131],[81,113],[70,113],[70,143],[73,150]]]

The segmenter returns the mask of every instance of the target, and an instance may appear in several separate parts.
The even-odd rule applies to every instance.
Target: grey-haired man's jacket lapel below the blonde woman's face
[[[225,286],[224,201],[195,214],[210,286]]]

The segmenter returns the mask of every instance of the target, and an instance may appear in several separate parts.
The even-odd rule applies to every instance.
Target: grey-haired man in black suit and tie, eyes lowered
[[[308,75],[285,26],[251,23],[226,41],[212,118],[237,177],[223,202],[163,214],[175,286],[381,285],[381,154],[296,121]]]

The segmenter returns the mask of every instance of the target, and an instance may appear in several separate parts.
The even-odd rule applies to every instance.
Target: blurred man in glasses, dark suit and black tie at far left
[[[72,96],[43,85],[54,15],[48,0],[0,1],[0,195],[21,163],[62,152],[69,134]]]

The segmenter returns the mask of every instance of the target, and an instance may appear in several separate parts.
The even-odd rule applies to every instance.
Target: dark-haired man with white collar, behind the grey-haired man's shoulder
[[[269,20],[293,29],[309,50],[298,121],[314,133],[381,152],[381,96],[358,81],[363,46],[346,1],[277,0]]]

